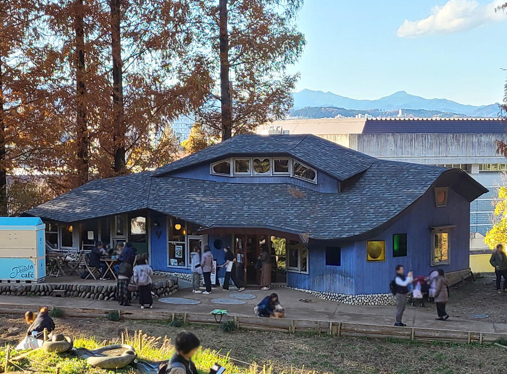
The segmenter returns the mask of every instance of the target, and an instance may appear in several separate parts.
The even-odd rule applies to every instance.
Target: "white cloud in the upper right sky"
[[[505,4],[505,0],[494,0],[487,5],[479,5],[475,0],[449,0],[442,7],[434,7],[431,15],[419,21],[403,22],[397,31],[400,38],[417,38],[428,34],[445,35],[500,22],[507,16],[495,8]]]

